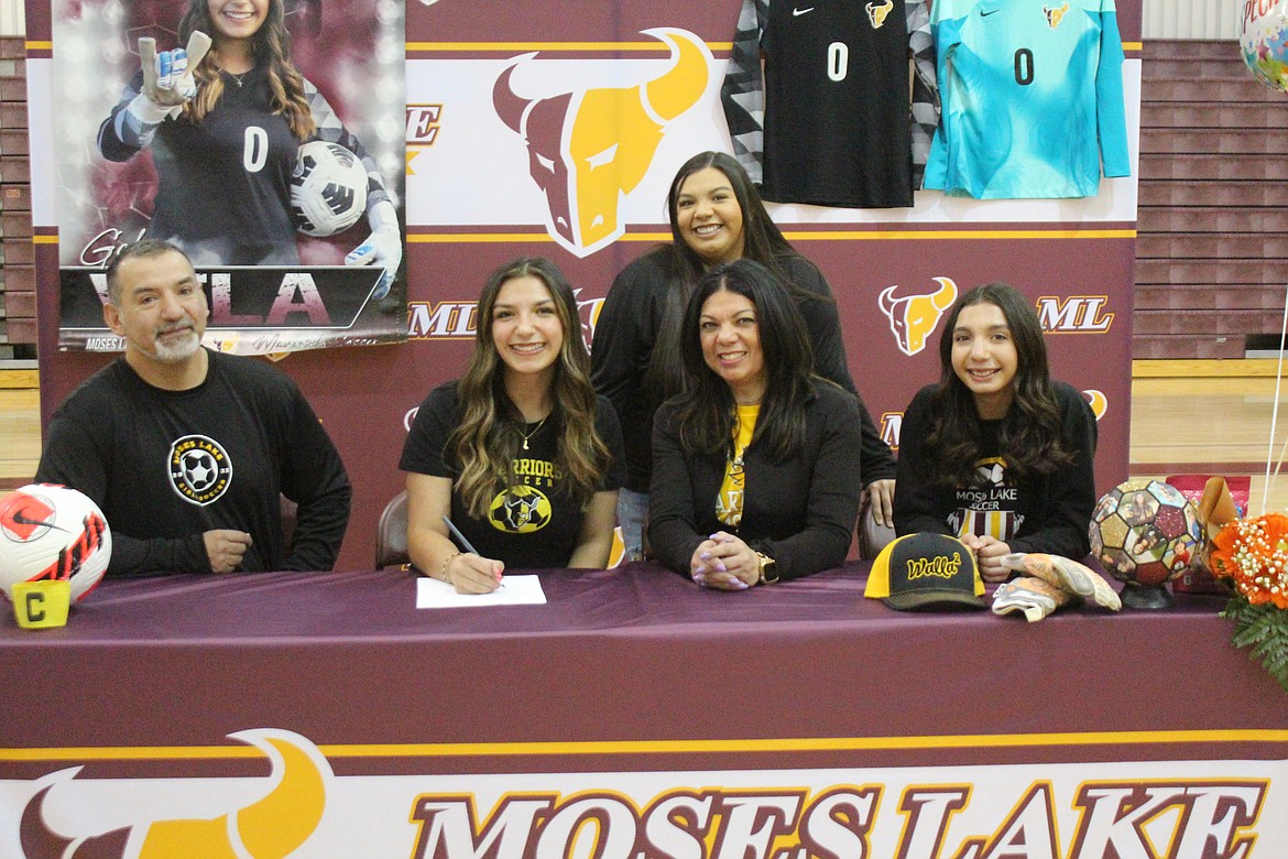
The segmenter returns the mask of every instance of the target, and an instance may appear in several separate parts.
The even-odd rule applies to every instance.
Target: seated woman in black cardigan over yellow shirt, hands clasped
[[[840,565],[863,493],[859,402],[810,372],[791,296],[757,263],[721,265],[681,331],[692,386],[653,424],[654,555],[721,590]]]

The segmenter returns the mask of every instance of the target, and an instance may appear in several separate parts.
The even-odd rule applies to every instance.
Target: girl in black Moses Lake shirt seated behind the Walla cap
[[[1033,305],[1006,283],[962,295],[939,340],[938,384],[903,417],[900,534],[953,534],[980,574],[1005,581],[1001,558],[1037,551],[1081,559],[1096,502],[1096,417],[1051,380]]]

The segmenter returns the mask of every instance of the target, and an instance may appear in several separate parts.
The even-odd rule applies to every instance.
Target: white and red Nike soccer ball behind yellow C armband
[[[32,483],[0,498],[0,590],[18,582],[62,578],[72,600],[90,592],[112,559],[103,511],[81,492]]]

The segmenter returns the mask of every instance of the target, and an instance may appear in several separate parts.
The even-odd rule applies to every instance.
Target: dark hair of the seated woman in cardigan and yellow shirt
[[[791,295],[768,268],[748,259],[707,272],[685,308],[680,354],[690,386],[679,395],[676,410],[680,446],[698,453],[733,451],[737,403],[728,382],[707,366],[699,331],[702,305],[720,290],[742,295],[756,308],[766,385],[752,443],[762,438],[770,457],[788,458],[805,439],[814,346]]]

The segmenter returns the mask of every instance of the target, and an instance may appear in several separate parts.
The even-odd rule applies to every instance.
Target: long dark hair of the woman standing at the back
[[[679,197],[680,188],[689,176],[707,167],[715,167],[725,174],[725,178],[729,179],[729,187],[733,188],[733,196],[738,201],[738,209],[742,210],[742,259],[760,263],[769,269],[796,301],[826,300],[792,282],[787,273],[787,261],[791,259],[804,260],[804,258],[787,242],[782,231],[778,229],[778,224],[765,211],[760,192],[756,191],[751,176],[738,164],[738,160],[724,152],[699,152],[680,165],[675,179],[671,180],[671,189],[666,194],[666,211],[671,220],[671,245],[654,251],[665,255],[663,270],[667,278],[662,328],[657,332],[645,376],[648,394],[656,402],[675,395],[687,384],[683,370],[672,357],[680,349],[681,337],[687,337],[689,334],[681,325],[681,319],[689,307],[693,290],[707,270],[707,264],[684,242],[684,236],[680,233]]]

